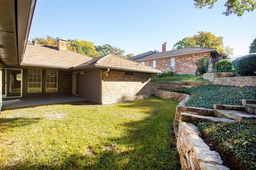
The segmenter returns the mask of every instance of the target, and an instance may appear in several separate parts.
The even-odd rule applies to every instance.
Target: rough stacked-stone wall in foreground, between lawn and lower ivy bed
[[[195,125],[186,122],[179,124],[177,149],[181,169],[229,169],[221,165],[222,160],[218,152],[210,150],[199,134]]]

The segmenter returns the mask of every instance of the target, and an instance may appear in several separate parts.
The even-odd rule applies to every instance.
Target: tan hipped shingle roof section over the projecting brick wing
[[[160,70],[154,69],[146,65],[141,65],[137,62],[133,62],[125,58],[117,57],[112,54],[93,58],[92,60],[79,64],[74,68],[79,69],[79,68],[86,68],[86,67],[110,68],[110,69],[116,69],[116,70],[138,71],[138,72],[147,72],[147,73],[161,73]]]

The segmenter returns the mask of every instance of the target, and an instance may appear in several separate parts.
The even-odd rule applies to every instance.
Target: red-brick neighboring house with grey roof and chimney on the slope
[[[196,62],[204,56],[207,56],[209,61],[228,57],[226,54],[221,54],[216,48],[187,47],[169,51],[166,49],[166,43],[164,43],[162,52],[149,51],[130,57],[129,60],[151,66],[163,72],[173,71],[177,74],[196,74]]]

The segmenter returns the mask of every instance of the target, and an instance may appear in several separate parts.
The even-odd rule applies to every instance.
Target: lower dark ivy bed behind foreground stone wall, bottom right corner
[[[256,169],[256,121],[195,123],[202,137],[230,169]]]

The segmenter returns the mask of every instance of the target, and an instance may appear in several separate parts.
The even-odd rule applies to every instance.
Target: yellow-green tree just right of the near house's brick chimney
[[[93,43],[87,40],[69,39],[67,49],[90,57],[100,56]]]

